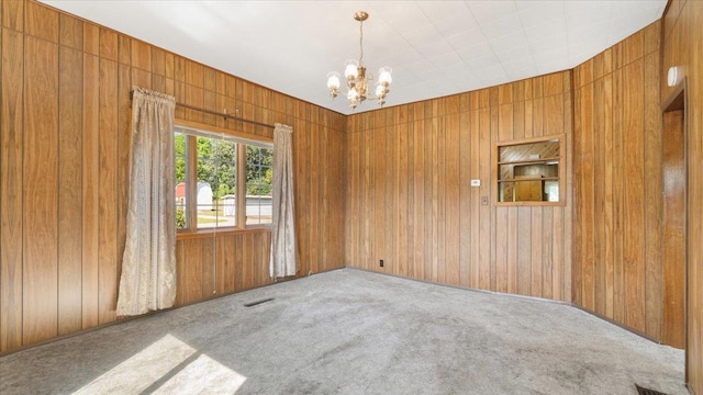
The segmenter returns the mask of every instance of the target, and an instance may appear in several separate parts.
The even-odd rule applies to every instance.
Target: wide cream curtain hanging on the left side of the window
[[[174,305],[176,215],[172,97],[135,88],[126,242],[118,316]]]

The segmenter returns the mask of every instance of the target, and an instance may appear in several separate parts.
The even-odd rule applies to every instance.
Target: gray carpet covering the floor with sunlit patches
[[[683,351],[574,307],[354,269],[0,358],[3,395],[634,395],[635,383],[688,394]]]

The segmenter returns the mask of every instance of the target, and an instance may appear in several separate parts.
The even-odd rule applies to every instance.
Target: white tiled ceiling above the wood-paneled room
[[[393,68],[387,105],[572,68],[659,19],[667,0],[42,0],[279,92],[349,114],[328,71]],[[367,101],[356,112],[375,110]]]

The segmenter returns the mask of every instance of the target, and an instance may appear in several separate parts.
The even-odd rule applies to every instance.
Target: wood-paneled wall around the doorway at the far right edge
[[[666,84],[669,67],[687,79],[688,295],[687,377],[703,394],[703,1],[672,0],[663,18],[661,103],[677,87]]]

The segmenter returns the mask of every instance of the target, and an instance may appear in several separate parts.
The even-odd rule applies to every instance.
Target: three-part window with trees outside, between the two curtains
[[[175,148],[178,229],[271,224],[270,143],[177,126]]]

